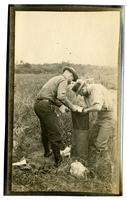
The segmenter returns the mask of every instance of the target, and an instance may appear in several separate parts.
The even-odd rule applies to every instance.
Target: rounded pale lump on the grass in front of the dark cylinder
[[[89,170],[77,160],[71,164],[70,173],[77,178],[85,178],[87,180],[87,174]]]

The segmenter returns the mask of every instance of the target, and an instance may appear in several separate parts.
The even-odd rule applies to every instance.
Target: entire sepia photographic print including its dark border
[[[5,195],[122,195],[123,16],[8,6]]]

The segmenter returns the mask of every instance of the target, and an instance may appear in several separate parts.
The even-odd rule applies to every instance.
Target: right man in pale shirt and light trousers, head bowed
[[[113,109],[110,92],[101,84],[87,84],[84,80],[77,81],[72,90],[76,95],[84,97],[83,113],[97,112],[98,134],[94,142],[97,152],[107,151],[107,142],[112,134]],[[94,128],[94,127],[93,127]]]

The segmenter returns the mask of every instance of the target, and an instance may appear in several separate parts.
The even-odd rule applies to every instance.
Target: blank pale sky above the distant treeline
[[[120,13],[16,11],[15,61],[117,67]]]

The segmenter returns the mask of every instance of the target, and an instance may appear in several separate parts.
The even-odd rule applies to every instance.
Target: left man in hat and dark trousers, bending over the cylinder
[[[44,156],[49,157],[51,151],[54,154],[55,166],[58,167],[62,161],[60,155],[60,124],[54,105],[60,107],[65,105],[72,111],[77,111],[77,106],[73,105],[66,96],[68,84],[78,79],[76,71],[72,67],[65,67],[63,74],[51,78],[37,95],[34,110],[40,120],[42,143],[44,146]]]

